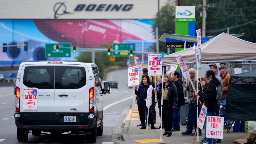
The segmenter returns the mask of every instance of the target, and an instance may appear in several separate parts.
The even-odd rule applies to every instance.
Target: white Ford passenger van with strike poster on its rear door
[[[23,62],[16,82],[15,124],[19,142],[39,136],[85,134],[89,143],[103,133],[101,88],[97,65],[80,62]]]

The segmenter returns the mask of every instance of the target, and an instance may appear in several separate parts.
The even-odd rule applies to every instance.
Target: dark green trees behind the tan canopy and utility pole
[[[256,35],[254,35],[256,22],[232,28],[256,19],[255,0],[211,0],[206,2],[207,5],[208,2],[210,5],[215,4],[215,7],[208,8],[206,11],[206,36],[216,36],[227,32],[226,29],[221,29],[229,27],[229,34],[244,33],[245,35],[239,38],[256,42]],[[183,0],[184,6],[202,5],[202,3],[202,0]],[[202,8],[196,9],[196,29],[202,29],[200,12],[202,12]]]

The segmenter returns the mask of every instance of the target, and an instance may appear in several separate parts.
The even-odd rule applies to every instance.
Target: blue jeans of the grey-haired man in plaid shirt
[[[198,113],[199,115],[199,113]],[[197,105],[196,103],[191,103],[188,106],[188,122],[187,122],[187,132],[193,133],[193,125],[196,129],[197,127]],[[199,134],[202,133],[202,130],[198,128]]]

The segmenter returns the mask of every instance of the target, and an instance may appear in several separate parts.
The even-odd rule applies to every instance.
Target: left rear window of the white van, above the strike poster
[[[24,70],[23,84],[39,89],[54,89],[54,67],[34,66]]]

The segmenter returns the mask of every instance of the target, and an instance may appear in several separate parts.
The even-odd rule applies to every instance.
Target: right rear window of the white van
[[[55,89],[77,89],[86,84],[86,72],[83,67],[55,67]]]

